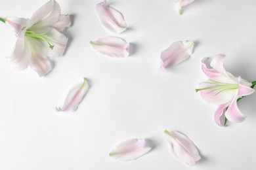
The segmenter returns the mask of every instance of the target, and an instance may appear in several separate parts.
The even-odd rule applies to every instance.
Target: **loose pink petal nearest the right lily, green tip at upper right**
[[[177,41],[173,42],[169,48],[161,52],[161,70],[165,70],[166,67],[173,67],[192,54],[194,42],[192,41]]]

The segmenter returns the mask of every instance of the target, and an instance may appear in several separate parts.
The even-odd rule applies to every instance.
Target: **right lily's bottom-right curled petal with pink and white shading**
[[[234,123],[240,123],[245,120],[244,114],[242,114],[242,112],[240,112],[240,110],[238,109],[238,105],[236,103],[237,100],[238,97],[234,97],[234,99],[232,99],[230,105],[228,106],[228,109],[225,112],[226,118],[230,122]]]

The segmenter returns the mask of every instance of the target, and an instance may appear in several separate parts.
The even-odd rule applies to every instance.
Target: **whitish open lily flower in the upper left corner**
[[[7,24],[18,39],[7,61],[17,71],[30,66],[39,76],[51,71],[47,57],[62,56],[68,39],[60,33],[69,27],[70,17],[60,14],[60,5],[54,0],[36,10],[30,19],[8,17]]]

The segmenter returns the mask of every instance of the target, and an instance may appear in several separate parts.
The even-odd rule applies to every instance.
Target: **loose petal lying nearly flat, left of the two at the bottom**
[[[118,161],[136,160],[150,151],[145,139],[129,139],[117,144],[110,152],[110,157]]]

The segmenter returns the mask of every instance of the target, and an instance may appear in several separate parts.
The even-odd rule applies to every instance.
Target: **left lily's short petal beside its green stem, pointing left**
[[[8,17],[5,18],[5,24],[11,27],[17,35],[22,32],[22,28],[26,25],[28,19],[26,18],[17,18],[17,17]]]

